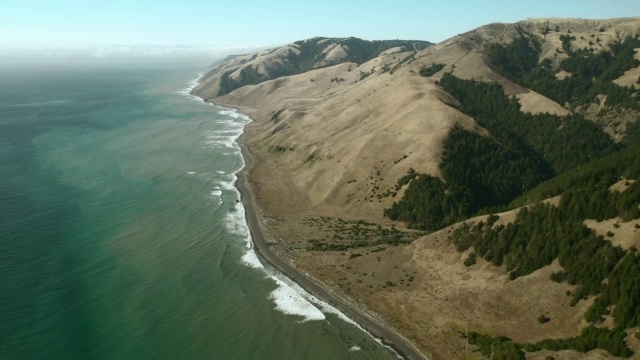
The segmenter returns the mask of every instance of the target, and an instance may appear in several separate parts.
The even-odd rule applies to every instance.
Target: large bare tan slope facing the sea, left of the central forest
[[[451,126],[474,126],[445,104],[455,100],[433,80],[405,69],[410,60],[393,74],[382,72],[412,55],[388,54],[265,81],[214,101],[264,119],[255,124],[252,148],[281,163],[312,206],[381,219],[380,205],[391,199],[377,195],[411,167],[438,173],[440,144]],[[287,151],[271,151],[279,148]]]

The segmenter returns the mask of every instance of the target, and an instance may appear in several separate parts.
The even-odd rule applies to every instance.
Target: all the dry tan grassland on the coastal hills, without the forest
[[[419,239],[375,252],[305,249],[311,239],[339,235],[319,230],[317,219],[321,216],[331,219],[323,220],[326,222],[363,219],[406,230],[383,217],[383,209],[400,199],[402,191],[396,197],[383,194],[410,168],[440,176],[442,142],[455,124],[488,136],[472,118],[448,105],[455,105],[456,100],[436,84],[444,72],[498,82],[506,94],[519,99],[526,112],[570,113],[562,104],[502,77],[489,64],[486,47],[510,42],[519,36],[518,28],[542,37],[543,56],[557,62],[566,56],[558,51],[560,35],[571,31],[577,38],[574,46],[591,46],[597,51],[617,36],[640,32],[640,18],[549,18],[490,24],[416,53],[389,49],[360,65],[344,62],[216,97],[220,69],[237,72],[241,66],[253,64],[259,71],[267,71],[262,69],[284,61],[286,51],[296,51],[287,45],[234,58],[205,76],[195,90],[205,99],[238,108],[255,120],[246,128],[243,142],[256,160],[249,177],[264,211],[273,251],[309,276],[366,305],[436,359],[467,358],[467,354],[478,358],[478,354],[467,352],[460,336],[467,327],[521,342],[577,335],[585,326],[584,310],[592,299],[576,307],[568,305],[566,292],[572,287],[548,280],[551,272],[560,268],[557,262],[515,281],[508,281],[504,269],[483,260],[465,267],[467,254],[458,253],[446,241],[451,228],[422,237],[424,234],[407,231]],[[342,59],[345,51],[338,45],[329,46],[325,58]],[[446,66],[429,78],[419,75],[423,66],[434,63]],[[635,73],[625,74],[616,81],[626,84],[633,76]],[[515,212],[501,214],[500,221],[514,216]],[[317,222],[312,224],[311,220]],[[590,224],[602,229],[605,225],[614,226]],[[637,244],[634,229],[621,227],[612,241]],[[622,238],[624,231],[635,236],[633,242]],[[354,255],[357,257],[351,258]],[[541,314],[552,320],[539,324],[536,319]],[[630,343],[637,350],[634,341]],[[546,355],[596,359],[607,354],[601,350],[588,355],[540,352],[530,358],[544,359]]]

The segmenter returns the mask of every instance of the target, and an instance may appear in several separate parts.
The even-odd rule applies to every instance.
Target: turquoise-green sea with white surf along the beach
[[[0,69],[0,358],[394,358],[248,249],[203,69]]]

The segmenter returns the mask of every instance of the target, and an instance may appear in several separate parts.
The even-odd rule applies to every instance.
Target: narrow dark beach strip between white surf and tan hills
[[[210,102],[208,100],[205,101]],[[240,109],[236,110],[241,111]],[[252,121],[255,120],[252,119]],[[251,124],[245,125],[242,134],[236,140],[245,162],[244,167],[236,174],[238,178],[236,188],[240,192],[240,201],[245,208],[247,226],[251,234],[251,241],[256,255],[266,262],[265,265],[275,268],[314,297],[335,307],[348,318],[355,321],[384,346],[396,352],[401,358],[407,360],[428,360],[429,358],[418,350],[412,342],[384,324],[380,319],[359,308],[358,304],[353,301],[345,299],[340,294],[336,294],[330,288],[320,284],[313,277],[303,274],[286,261],[280,259],[269,249],[267,236],[265,236],[265,227],[261,223],[262,217],[259,215],[261,210],[255,201],[255,196],[248,178],[248,173],[254,164],[253,155],[244,143],[246,127],[250,125]]]

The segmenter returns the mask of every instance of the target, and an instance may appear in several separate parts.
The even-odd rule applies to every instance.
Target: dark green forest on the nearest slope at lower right
[[[543,340],[536,344],[516,344],[505,337],[472,333],[469,340],[479,350],[503,358],[524,358],[523,350],[574,349],[607,350],[615,356],[630,357],[624,338],[626,329],[640,325],[640,256],[637,249],[623,250],[584,225],[585,219],[618,219],[627,222],[640,218],[640,183],[627,181],[623,192],[611,191],[611,185],[640,177],[640,144],[618,154],[581,166],[575,172],[551,180],[534,189],[529,199],[540,194],[562,194],[558,206],[537,203],[523,207],[516,220],[496,226],[497,215],[473,227],[461,225],[450,236],[459,251],[473,248],[473,257],[484,258],[495,266],[504,266],[510,279],[524,276],[558,259],[563,268],[550,280],[575,285],[567,293],[569,305],[590,296],[595,302],[585,313],[591,324],[580,336],[561,340]],[[614,226],[615,227],[615,226]],[[636,226],[640,228],[640,226]],[[609,233],[607,236],[613,236]],[[614,320],[612,328],[602,328],[604,318]]]

